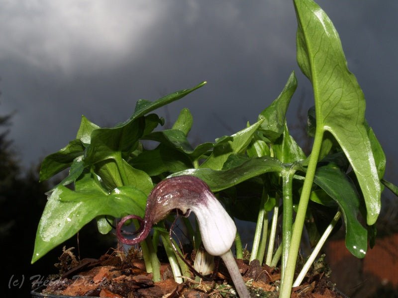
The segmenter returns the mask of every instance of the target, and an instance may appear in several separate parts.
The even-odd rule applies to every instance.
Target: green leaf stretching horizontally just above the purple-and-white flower
[[[209,168],[188,169],[169,175],[175,177],[192,175],[202,179],[213,192],[234,186],[250,178],[268,172],[280,172],[284,169],[282,163],[269,156],[252,157],[237,167],[228,170],[213,170]]]

